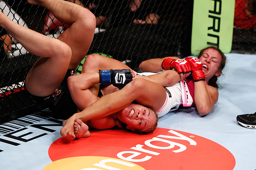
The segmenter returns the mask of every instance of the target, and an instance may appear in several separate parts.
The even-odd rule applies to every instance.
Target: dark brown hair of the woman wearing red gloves
[[[222,53],[222,51],[220,50],[220,49],[218,49],[217,47],[215,47],[215,46],[209,46],[209,47],[206,47],[206,48],[204,48],[204,49],[202,49],[201,51],[200,51],[200,53],[198,54],[198,59],[203,55],[203,53],[204,53],[204,51],[205,50],[207,50],[207,49],[214,49],[214,50],[216,50],[219,54],[221,54],[221,64],[219,65],[219,70],[221,70],[221,74],[219,74],[218,76],[213,76],[209,81],[208,81],[208,85],[210,85],[210,86],[213,86],[213,87],[215,87],[215,88],[219,88],[219,85],[217,84],[217,80],[218,80],[218,77],[220,76],[220,75],[223,75],[223,73],[222,73],[222,70],[223,70],[223,68],[225,67],[225,65],[226,65],[226,56],[224,55],[224,53]],[[219,71],[218,70],[218,71]]]

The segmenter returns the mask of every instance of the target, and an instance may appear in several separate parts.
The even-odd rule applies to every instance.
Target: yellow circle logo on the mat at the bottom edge
[[[78,156],[56,160],[43,170],[145,170],[141,166],[122,159],[102,156]]]

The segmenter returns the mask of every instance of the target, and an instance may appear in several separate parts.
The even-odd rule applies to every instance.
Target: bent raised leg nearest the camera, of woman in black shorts
[[[44,57],[42,60],[39,59],[36,62],[38,67],[35,68],[35,75],[33,79],[30,80],[31,86],[26,82],[29,92],[38,96],[46,96],[50,92],[53,92],[62,81],[66,74],[66,70],[68,69],[71,59],[71,50],[69,46],[60,40],[49,38],[38,32],[32,31],[31,29],[18,25],[3,13],[0,13],[0,25],[30,53]],[[62,52],[60,52],[60,50]],[[54,60],[52,58],[54,58]],[[62,68],[53,67],[54,64],[62,65]],[[54,72],[56,72],[57,75],[54,75]],[[28,77],[30,77],[30,74],[31,72],[28,74]],[[46,85],[46,82],[51,83]],[[33,86],[34,88],[31,88]],[[43,92],[43,94],[41,94],[41,92]]]

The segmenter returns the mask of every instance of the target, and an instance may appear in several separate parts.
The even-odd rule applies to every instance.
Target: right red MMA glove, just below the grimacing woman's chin
[[[194,81],[200,81],[200,80],[205,81],[205,75],[203,72],[203,65],[201,61],[196,57],[192,57],[192,58],[187,57],[185,60],[191,65],[191,69],[192,69],[191,75]]]

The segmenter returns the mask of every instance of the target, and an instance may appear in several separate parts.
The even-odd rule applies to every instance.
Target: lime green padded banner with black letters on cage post
[[[230,53],[234,13],[235,0],[194,0],[191,54],[210,45]]]

